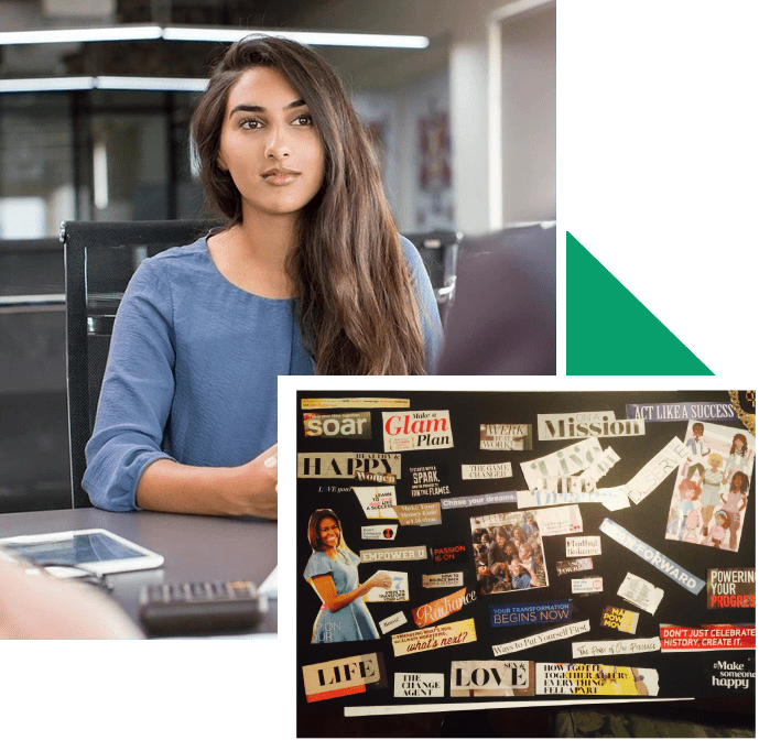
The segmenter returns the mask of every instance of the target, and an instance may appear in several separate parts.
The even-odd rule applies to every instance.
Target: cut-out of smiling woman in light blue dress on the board
[[[373,587],[390,589],[391,577],[378,572],[364,584],[358,583],[360,558],[345,544],[339,518],[330,509],[311,514],[307,540],[313,555],[304,578],[323,602],[313,624],[312,643],[379,639],[362,597]]]

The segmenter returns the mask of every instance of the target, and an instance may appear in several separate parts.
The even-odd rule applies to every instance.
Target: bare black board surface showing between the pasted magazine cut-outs
[[[393,398],[408,399],[408,407],[336,407],[302,409],[303,399],[346,399],[346,398]],[[745,395],[742,396],[745,401]],[[415,412],[433,413],[448,411],[452,431],[452,447],[437,447],[424,450],[400,451],[401,471],[394,486],[398,504],[434,503],[436,501],[491,496],[511,490],[527,490],[520,462],[550,455],[567,448],[584,436],[565,437],[561,440],[541,440],[538,435],[539,414],[596,413],[611,411],[616,420],[626,420],[629,404],[730,404],[726,391],[675,391],[675,392],[460,392],[460,391],[303,391],[297,393],[296,434],[297,454],[382,454],[383,417],[382,413]],[[677,412],[677,409],[680,410]],[[698,411],[699,410],[699,411]],[[339,437],[339,435],[305,435],[303,414],[313,412],[319,415],[368,412],[370,413],[370,437]],[[603,449],[611,447],[619,461],[597,482],[598,488],[616,488],[629,482],[644,466],[661,451],[673,438],[684,442],[688,417],[693,407],[682,416],[681,407],[658,410],[661,422],[646,421],[643,435],[599,436]],[[730,407],[695,407],[699,422],[735,428],[735,433],[747,433],[746,426],[736,418],[713,418],[711,415],[726,415]],[[654,411],[647,414],[653,416]],[[528,424],[532,426],[532,447],[528,450],[482,450],[480,448],[480,425]],[[317,428],[316,428],[317,429]],[[359,424],[357,428],[366,431]],[[565,425],[565,429],[568,429]],[[327,432],[334,432],[332,426]],[[729,431],[728,431],[729,432]],[[723,451],[727,454],[726,451]],[[707,455],[703,457],[707,460]],[[724,457],[727,459],[727,456]],[[510,461],[512,477],[499,479],[463,479],[463,465],[490,465]],[[297,465],[297,474],[302,474]],[[691,461],[690,464],[694,464]],[[412,472],[417,467],[435,467],[438,488],[436,496],[412,496]],[[611,520],[622,530],[643,541],[646,545],[673,562],[680,572],[687,572],[696,579],[706,581],[709,569],[753,569],[756,557],[756,492],[755,469],[751,466],[750,489],[741,520],[739,549],[729,549],[729,537],[722,541],[722,548],[711,545],[691,544],[679,540],[666,540],[666,525],[673,524],[670,508],[674,488],[684,479],[690,465],[683,471],[676,467],[660,485],[638,503],[628,508],[609,511],[601,503],[578,503],[583,531],[579,533],[542,536],[547,586],[530,587],[523,590],[480,594],[476,569],[471,525],[480,516],[503,512],[517,512],[514,502],[488,503],[478,507],[444,508],[441,510],[441,524],[398,525],[397,536],[392,541],[361,540],[361,527],[376,524],[395,524],[394,520],[372,520],[365,515],[361,503],[351,486],[373,487],[376,482],[359,481],[345,477],[308,478],[297,477],[297,707],[299,725],[303,722],[303,707],[307,707],[303,666],[317,665],[330,661],[345,661],[364,654],[381,654],[379,670],[384,675],[386,687],[361,690],[345,696],[323,699],[327,706],[345,706],[356,714],[358,708],[370,707],[372,714],[382,711],[425,711],[431,707],[476,708],[481,703],[500,703],[510,706],[518,701],[579,703],[585,700],[611,700],[606,694],[538,694],[527,696],[490,696],[475,694],[466,697],[449,695],[451,670],[453,662],[465,661],[525,661],[528,663],[584,663],[608,666],[627,666],[651,668],[657,672],[657,698],[682,697],[748,697],[755,693],[755,652],[749,649],[713,649],[705,651],[649,651],[636,654],[618,654],[600,659],[573,657],[573,642],[598,642],[620,640],[649,640],[661,638],[661,627],[698,629],[705,624],[753,625],[756,610],[751,607],[725,607],[709,609],[707,590],[704,586],[698,594],[693,594],[644,559],[642,554],[629,549],[605,532],[599,530],[605,519]],[[724,467],[724,465],[723,465]],[[383,467],[375,468],[383,471]],[[699,478],[699,470],[693,474],[693,481]],[[719,488],[720,492],[726,487]],[[718,512],[720,505],[715,508]],[[409,548],[424,545],[427,559],[400,560],[388,563],[360,563],[358,576],[361,583],[380,569],[404,572],[409,580],[409,601],[370,602],[368,610],[378,624],[402,611],[406,622],[382,634],[380,639],[364,641],[311,643],[314,622],[319,612],[321,600],[310,584],[303,578],[303,572],[313,551],[307,540],[307,520],[316,509],[332,509],[338,515],[348,546],[360,554],[361,549]],[[527,509],[530,511],[531,509]],[[534,509],[539,511],[539,509]],[[712,518],[715,515],[712,512]],[[698,518],[698,522],[702,519]],[[491,530],[490,530],[491,531]],[[566,556],[566,537],[598,536],[601,553],[593,557],[592,570],[557,574],[556,563],[568,560]],[[438,548],[465,547],[455,563],[436,564],[430,559],[432,551]],[[651,554],[650,554],[650,557]],[[574,560],[574,558],[572,558]],[[394,656],[392,638],[417,630],[412,610],[421,605],[448,596],[460,587],[424,588],[423,575],[438,573],[464,574],[464,586],[476,591],[476,599],[467,601],[452,614],[438,620],[433,625],[442,625],[466,619],[474,620],[476,641],[466,641],[425,652]],[[627,574],[641,577],[663,590],[662,600],[654,613],[632,605],[617,595]],[[573,594],[572,580],[584,576],[601,577],[603,590],[592,594]],[[752,576],[752,574],[751,574]],[[686,578],[686,577],[685,577]],[[753,591],[753,587],[750,588]],[[738,585],[738,592],[744,591]],[[521,651],[495,656],[492,645],[523,640],[545,633],[557,624],[518,623],[516,625],[492,627],[490,606],[495,605],[538,605],[542,602],[572,601],[572,618],[567,623],[588,621],[589,631],[567,639],[560,639],[536,644]],[[733,600],[748,603],[748,599]],[[752,599],[751,599],[752,601]],[[725,600],[727,602],[727,600]],[[623,633],[601,625],[603,611],[612,606],[638,613],[636,633]],[[430,628],[430,627],[429,627]],[[727,643],[727,642],[723,642]],[[340,663],[341,664],[341,663]],[[362,670],[366,668],[362,667]],[[354,668],[355,672],[355,668]],[[395,673],[410,675],[442,674],[444,679],[443,696],[434,697],[394,697],[393,679]],[[344,683],[344,671],[338,673]],[[534,679],[534,676],[531,676]],[[729,678],[733,678],[730,683]],[[329,673],[326,681],[334,681]],[[381,682],[382,683],[382,682]],[[622,684],[622,681],[619,682]],[[328,685],[329,690],[334,688]],[[644,700],[644,696],[618,695],[617,698]],[[419,705],[419,708],[417,708]],[[383,709],[383,708],[388,709]],[[370,710],[365,710],[368,712]],[[305,729],[306,731],[307,729]]]

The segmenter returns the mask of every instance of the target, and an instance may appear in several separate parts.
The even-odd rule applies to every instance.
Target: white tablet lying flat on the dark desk
[[[107,530],[74,530],[0,538],[0,551],[62,578],[118,574],[163,565],[163,556]]]

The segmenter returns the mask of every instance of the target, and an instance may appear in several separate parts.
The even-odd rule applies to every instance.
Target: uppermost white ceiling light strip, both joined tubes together
[[[173,42],[237,42],[248,34],[282,36],[318,46],[395,47],[424,50],[427,36],[408,34],[358,34],[348,32],[278,31],[258,29],[194,28],[194,26],[97,26],[93,29],[51,29],[46,31],[0,32],[3,44],[62,44],[66,42],[121,42],[164,39]]]

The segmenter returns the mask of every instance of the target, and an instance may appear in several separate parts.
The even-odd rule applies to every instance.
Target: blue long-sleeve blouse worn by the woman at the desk
[[[432,370],[438,311],[420,254],[405,238],[402,247]],[[313,372],[292,301],[227,281],[206,238],[147,259],[116,317],[84,489],[96,507],[133,511],[139,478],[158,459],[198,467],[251,460],[278,439],[276,377]]]

